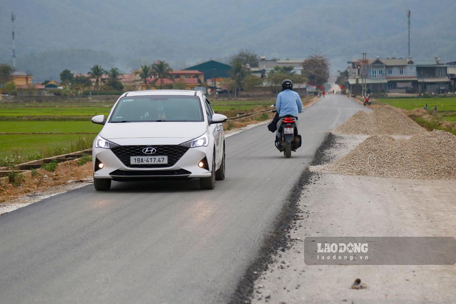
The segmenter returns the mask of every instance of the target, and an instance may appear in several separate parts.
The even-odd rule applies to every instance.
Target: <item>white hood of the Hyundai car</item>
[[[100,136],[113,142],[135,138],[175,138],[183,142],[199,137],[206,130],[205,122],[107,123]]]

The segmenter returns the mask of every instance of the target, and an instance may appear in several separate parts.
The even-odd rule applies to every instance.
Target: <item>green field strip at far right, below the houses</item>
[[[437,110],[440,111],[456,111],[456,97],[446,98],[379,98],[378,101],[387,103],[392,106],[400,107],[406,110],[412,110],[416,108],[423,108],[425,104],[428,104],[431,110],[434,106],[437,106]]]

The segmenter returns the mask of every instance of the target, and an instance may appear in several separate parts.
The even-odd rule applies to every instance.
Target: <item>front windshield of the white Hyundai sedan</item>
[[[197,96],[154,95],[123,97],[114,109],[111,123],[202,122]]]

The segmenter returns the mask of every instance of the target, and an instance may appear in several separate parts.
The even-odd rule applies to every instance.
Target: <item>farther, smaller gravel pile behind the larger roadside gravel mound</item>
[[[371,113],[359,111],[343,125],[334,130],[335,134],[366,135],[414,135],[424,129],[408,118],[404,112],[390,105],[382,105]]]

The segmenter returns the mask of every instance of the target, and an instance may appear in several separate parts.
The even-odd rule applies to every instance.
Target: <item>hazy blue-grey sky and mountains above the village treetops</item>
[[[109,64],[128,70],[157,59],[174,68],[208,59],[227,61],[239,50],[249,49],[281,59],[303,59],[320,52],[328,56],[335,71],[362,52],[370,57],[405,58],[407,10],[412,12],[411,55],[456,60],[454,0],[3,0],[0,60],[11,62],[14,11],[17,62],[33,69],[44,67],[32,58],[57,60],[62,50],[104,52],[107,55],[100,56],[109,57]],[[78,52],[71,54],[69,66],[84,59],[77,58]],[[68,68],[58,62],[56,70]],[[51,63],[49,59],[46,64]],[[78,63],[71,68],[86,66]]]

